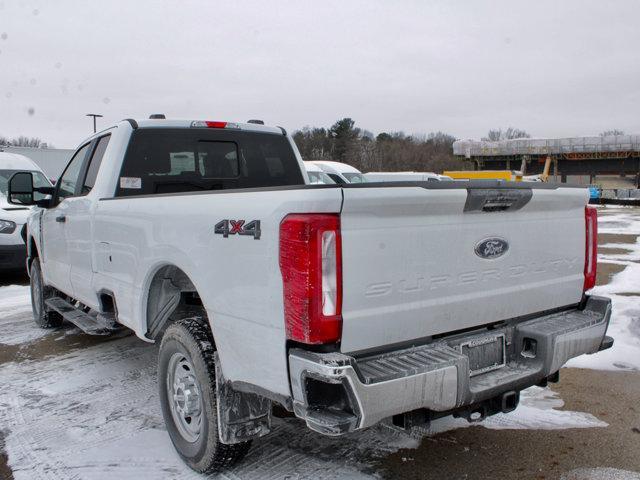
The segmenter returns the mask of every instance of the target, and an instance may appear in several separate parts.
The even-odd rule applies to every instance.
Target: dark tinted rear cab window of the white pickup
[[[127,148],[116,197],[302,184],[284,135],[143,128]]]

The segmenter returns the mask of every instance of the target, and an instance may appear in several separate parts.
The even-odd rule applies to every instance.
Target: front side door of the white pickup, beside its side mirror
[[[71,202],[76,195],[78,180],[85,164],[90,143],[80,147],[71,158],[56,184],[55,206],[42,215],[42,261],[45,283],[73,295],[71,286],[71,264],[67,249],[67,217]]]

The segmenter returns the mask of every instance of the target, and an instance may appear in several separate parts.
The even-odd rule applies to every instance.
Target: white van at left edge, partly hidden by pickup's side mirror
[[[16,172],[32,172],[34,187],[51,183],[33,161],[23,155],[0,152],[0,270],[24,269],[27,248],[24,232],[31,207],[7,202],[7,185]],[[36,194],[41,195],[41,194]]]

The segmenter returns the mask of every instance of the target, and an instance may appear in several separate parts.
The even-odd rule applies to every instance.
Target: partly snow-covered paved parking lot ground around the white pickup
[[[293,418],[220,478],[640,478],[640,209],[600,209],[596,294],[616,344],[483,424],[382,425],[342,438]],[[156,347],[122,332],[39,330],[28,279],[0,286],[0,478],[201,478],[178,458],[156,387]],[[635,472],[635,473],[634,473]]]

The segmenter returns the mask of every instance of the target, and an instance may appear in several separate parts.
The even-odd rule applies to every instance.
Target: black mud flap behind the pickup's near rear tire
[[[220,441],[232,445],[271,432],[271,400],[234,390],[222,375],[218,353],[214,355]]]

